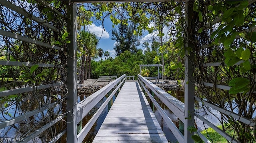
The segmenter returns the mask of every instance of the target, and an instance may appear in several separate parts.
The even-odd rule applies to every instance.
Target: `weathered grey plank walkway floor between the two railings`
[[[168,143],[138,82],[125,82],[92,143]]]

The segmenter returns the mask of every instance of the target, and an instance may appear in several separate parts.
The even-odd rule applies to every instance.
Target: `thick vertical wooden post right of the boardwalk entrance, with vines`
[[[192,37],[190,35],[192,25],[192,16],[194,14],[193,11],[194,1],[186,1],[185,2],[185,22],[186,22],[186,43],[185,48],[190,47],[194,49],[192,41]],[[184,123],[184,142],[185,143],[194,143],[192,139],[192,135],[194,132],[190,132],[188,127],[194,127],[194,96],[195,96],[195,86],[194,86],[194,50],[190,53],[186,50],[185,55],[185,123]],[[191,117],[191,118],[190,118]]]

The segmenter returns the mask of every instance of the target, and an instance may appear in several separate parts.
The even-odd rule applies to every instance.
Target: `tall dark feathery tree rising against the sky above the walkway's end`
[[[131,53],[138,51],[137,46],[140,45],[140,43],[138,37],[133,34],[135,27],[136,25],[134,23],[128,25],[124,20],[121,20],[118,29],[112,30],[111,39],[116,41],[116,45],[114,46],[116,56],[124,51],[130,51]]]

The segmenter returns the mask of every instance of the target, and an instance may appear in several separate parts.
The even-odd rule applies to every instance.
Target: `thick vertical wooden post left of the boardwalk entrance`
[[[68,39],[71,41],[67,44],[67,143],[76,143],[76,4],[72,2],[67,4],[67,31]]]

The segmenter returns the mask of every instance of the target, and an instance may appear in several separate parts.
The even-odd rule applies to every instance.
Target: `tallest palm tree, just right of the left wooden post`
[[[88,62],[90,62],[90,57],[96,53],[97,43],[98,39],[94,33],[90,33],[88,31],[80,32],[80,37],[78,38],[78,46],[82,47],[80,48],[82,49],[82,64],[79,84],[83,84],[84,79],[87,79]]]

